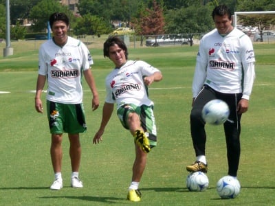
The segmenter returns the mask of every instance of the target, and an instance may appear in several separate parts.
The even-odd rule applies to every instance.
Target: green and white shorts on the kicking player
[[[129,113],[137,113],[140,116],[140,124],[150,141],[151,147],[157,146],[157,128],[153,106],[136,106],[135,104],[123,104],[118,108],[117,115],[124,128],[129,130],[127,119]]]

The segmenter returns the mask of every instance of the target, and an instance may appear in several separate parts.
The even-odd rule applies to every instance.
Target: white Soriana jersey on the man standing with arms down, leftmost
[[[47,76],[47,100],[79,104],[83,101],[83,71],[93,64],[87,47],[68,36],[60,47],[48,40],[39,49],[39,74]]]

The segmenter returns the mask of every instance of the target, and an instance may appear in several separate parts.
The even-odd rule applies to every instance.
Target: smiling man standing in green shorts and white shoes
[[[71,185],[78,188],[83,187],[78,177],[81,156],[79,133],[85,133],[87,129],[81,84],[83,75],[93,94],[92,110],[96,110],[99,106],[96,83],[90,70],[93,60],[89,50],[81,41],[67,36],[69,19],[66,14],[54,13],[49,21],[54,37],[43,43],[39,49],[35,108],[37,112],[43,113],[41,93],[47,80],[47,117],[52,134],[50,153],[54,168],[54,183],[50,189],[60,190],[63,187],[61,175],[63,133],[68,133],[70,142]]]

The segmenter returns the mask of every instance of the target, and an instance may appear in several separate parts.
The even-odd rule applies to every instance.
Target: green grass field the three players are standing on
[[[50,133],[45,114],[36,113],[37,49],[0,57],[0,205],[274,205],[274,45],[254,45],[256,80],[250,109],[243,115],[241,194],[222,200],[216,183],[227,172],[221,126],[207,126],[208,178],[205,192],[188,192],[186,165],[195,160],[189,130],[191,84],[197,46],[129,49],[129,58],[146,60],[162,70],[164,80],[149,90],[155,102],[158,146],[148,154],[140,191],[142,201],[129,203],[126,193],[134,158],[133,137],[114,114],[99,145],[92,144],[104,102],[104,77],[112,63],[102,49],[91,49],[101,105],[91,112],[85,84],[87,133],[82,135],[80,178],[83,189],[70,185],[69,142],[63,140],[63,189],[51,191]],[[43,97],[45,104],[45,96]]]

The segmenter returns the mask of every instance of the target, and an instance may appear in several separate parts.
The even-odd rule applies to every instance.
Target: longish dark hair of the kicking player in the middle
[[[109,48],[113,45],[118,45],[118,47],[120,47],[120,49],[123,49],[125,51],[125,58],[126,60],[128,59],[128,49],[124,43],[124,41],[122,41],[118,36],[110,36],[107,41],[104,42],[103,45],[103,55],[104,57],[110,57],[110,50]]]

